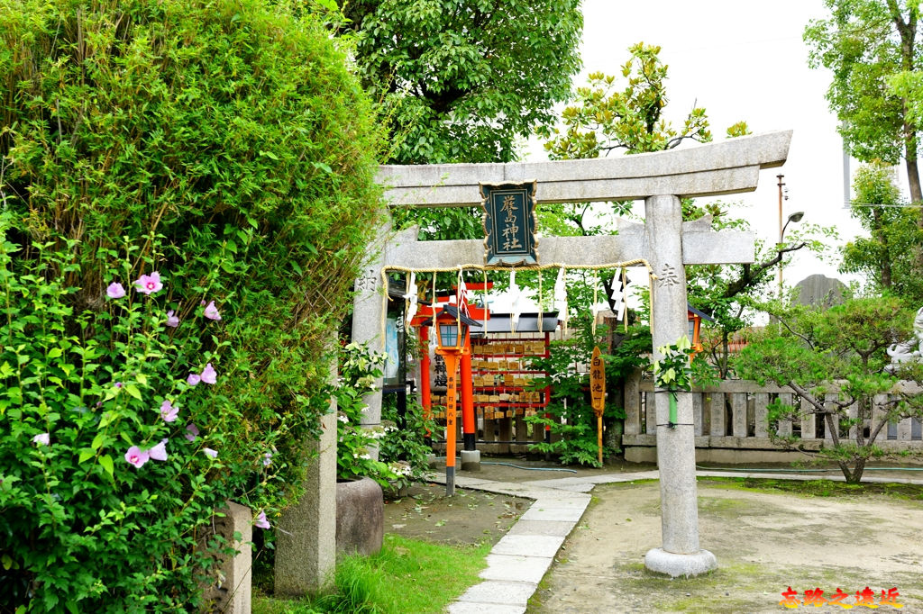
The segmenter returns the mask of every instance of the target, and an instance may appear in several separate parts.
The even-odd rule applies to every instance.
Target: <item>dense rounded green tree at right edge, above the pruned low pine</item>
[[[905,202],[892,169],[882,162],[864,165],[853,186],[856,201],[851,215],[870,236],[845,244],[840,271],[862,273],[871,289],[899,296],[908,305],[923,304],[923,271],[914,258],[907,257],[923,242],[923,231],[913,210],[902,207]]]

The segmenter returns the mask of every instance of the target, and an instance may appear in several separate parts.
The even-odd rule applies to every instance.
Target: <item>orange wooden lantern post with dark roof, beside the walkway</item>
[[[448,304],[436,315],[436,353],[446,361],[446,496],[455,494],[455,391],[459,357],[471,351],[469,329],[478,322]]]

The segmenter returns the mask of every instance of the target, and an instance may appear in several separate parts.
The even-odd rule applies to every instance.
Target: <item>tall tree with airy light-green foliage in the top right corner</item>
[[[857,159],[905,160],[910,197],[923,201],[917,154],[920,125],[907,92],[889,87],[905,75],[904,90],[920,67],[916,0],[824,0],[831,15],[812,19],[804,40],[809,64],[833,71],[827,90],[840,134]],[[898,83],[897,85],[901,85]],[[918,98],[918,95],[917,95]],[[923,226],[923,214],[919,225]]]

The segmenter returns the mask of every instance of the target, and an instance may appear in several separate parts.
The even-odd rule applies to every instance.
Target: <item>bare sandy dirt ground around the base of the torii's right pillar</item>
[[[804,599],[821,588],[845,603],[869,586],[897,588],[902,612],[923,612],[923,502],[886,495],[804,497],[700,481],[701,545],[718,559],[705,577],[647,573],[661,545],[656,482],[599,486],[581,524],[559,550],[529,612],[784,612],[788,586]],[[827,604],[820,610],[841,611]],[[865,610],[861,610],[865,611]],[[882,606],[880,612],[898,611]]]

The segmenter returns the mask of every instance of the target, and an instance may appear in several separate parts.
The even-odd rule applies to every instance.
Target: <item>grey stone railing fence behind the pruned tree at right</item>
[[[901,383],[905,392],[923,394],[916,384]],[[767,406],[776,398],[789,405],[807,407],[787,386],[760,386],[747,380],[727,380],[717,386],[692,391],[696,460],[713,463],[785,462],[804,458],[802,453],[785,451],[769,439]],[[883,419],[880,407],[887,395],[876,396],[872,415],[863,425],[868,434]],[[856,415],[850,407],[850,415]],[[656,460],[656,418],[653,412],[653,382],[631,379],[625,384],[625,431],[622,447],[625,459],[633,462]],[[798,421],[785,420],[774,425],[780,435],[795,435],[805,449],[818,449],[831,440],[825,420],[813,414]],[[841,438],[855,439],[857,426],[841,430]],[[923,452],[923,428],[916,419],[902,419],[882,428],[876,441],[883,449],[914,448]]]

